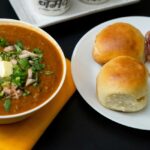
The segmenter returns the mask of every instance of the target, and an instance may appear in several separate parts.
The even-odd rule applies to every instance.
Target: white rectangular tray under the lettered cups
[[[60,16],[44,16],[37,13],[32,5],[32,0],[9,0],[19,19],[39,27],[75,19],[88,14],[133,4],[140,0],[109,0],[100,5],[88,5],[79,0],[71,0],[70,9]]]

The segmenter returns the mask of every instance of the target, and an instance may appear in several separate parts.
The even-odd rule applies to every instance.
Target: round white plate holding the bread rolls
[[[122,113],[103,107],[96,97],[96,76],[101,66],[92,58],[95,36],[104,27],[115,22],[130,23],[138,28],[143,35],[150,30],[150,18],[138,16],[117,18],[94,27],[80,39],[74,49],[71,60],[73,79],[83,99],[101,115],[128,127],[150,130],[150,102],[142,111]],[[148,98],[150,101],[150,91]]]

